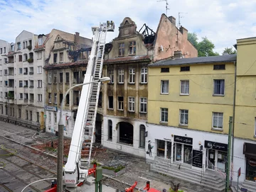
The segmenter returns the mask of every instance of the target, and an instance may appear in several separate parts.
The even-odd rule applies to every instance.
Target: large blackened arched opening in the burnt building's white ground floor
[[[119,122],[118,141],[133,145],[134,127],[131,123]]]

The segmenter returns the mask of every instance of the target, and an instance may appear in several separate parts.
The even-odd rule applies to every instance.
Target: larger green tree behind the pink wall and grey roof
[[[202,40],[198,42],[196,33],[188,33],[188,40],[198,50],[198,57],[219,55],[218,52],[213,52],[215,45],[206,37],[202,38]]]

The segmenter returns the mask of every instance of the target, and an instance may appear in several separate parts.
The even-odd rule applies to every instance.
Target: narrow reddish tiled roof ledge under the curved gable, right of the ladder
[[[105,64],[110,63],[124,63],[124,62],[149,62],[151,61],[149,55],[137,55],[137,56],[129,56],[129,57],[116,57],[114,59],[105,60]]]

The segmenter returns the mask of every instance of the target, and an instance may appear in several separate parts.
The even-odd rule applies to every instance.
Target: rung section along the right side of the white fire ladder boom
[[[99,42],[97,45],[97,56],[94,64],[93,77],[94,81],[97,81],[102,76],[102,67],[104,60],[104,51],[105,51],[105,39],[106,39],[106,30],[101,30],[99,35]],[[100,82],[92,84],[92,90],[90,95],[90,103],[88,106],[87,120],[85,123],[85,140],[82,142],[81,150],[81,166],[83,168],[90,167],[90,159],[92,154],[92,143],[95,140],[95,120],[97,115],[97,103],[100,95]]]

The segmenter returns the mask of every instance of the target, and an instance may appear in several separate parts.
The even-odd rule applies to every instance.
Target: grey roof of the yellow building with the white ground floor
[[[203,64],[203,63],[218,63],[218,62],[234,62],[237,60],[237,55],[220,55],[209,57],[192,57],[181,59],[167,59],[149,64],[150,67],[157,66],[172,66],[172,65],[190,65],[190,64]]]

